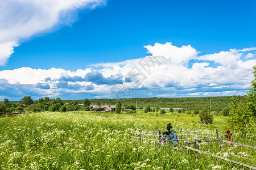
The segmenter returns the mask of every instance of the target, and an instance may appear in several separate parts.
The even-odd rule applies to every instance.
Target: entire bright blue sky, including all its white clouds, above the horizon
[[[0,1],[0,100],[115,98],[119,85],[130,89],[123,97],[243,95],[256,64],[255,7],[255,1]],[[138,62],[146,55],[159,64],[144,73]],[[146,79],[130,87],[134,67]]]

